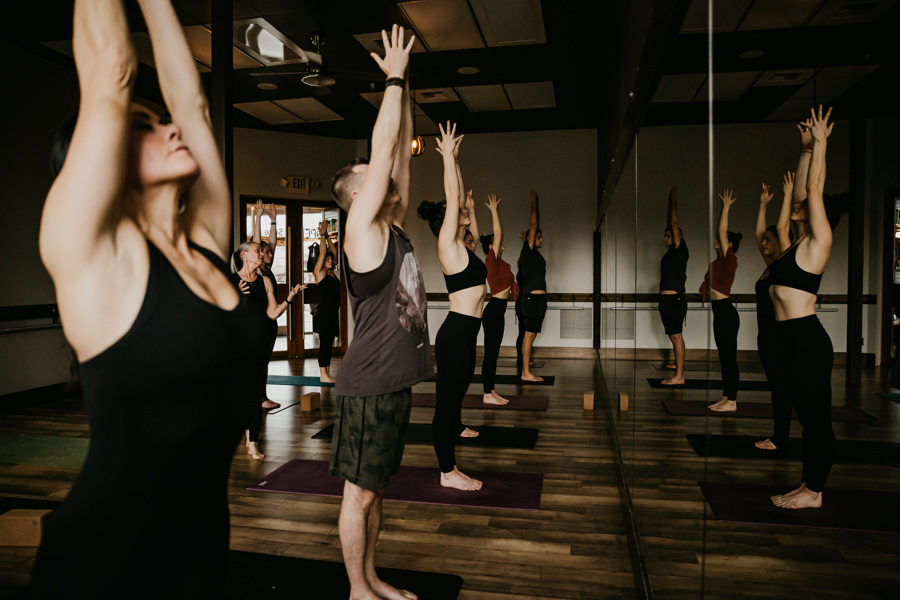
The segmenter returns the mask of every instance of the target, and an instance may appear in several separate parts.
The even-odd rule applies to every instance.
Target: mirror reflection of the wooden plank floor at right
[[[617,413],[650,580],[657,598],[887,598],[896,595],[900,538],[891,534],[740,525],[712,520],[697,482],[776,483],[785,491],[800,481],[795,461],[705,459],[685,441],[689,433],[772,433],[766,420],[676,417],[661,400],[717,401],[706,390],[656,390],[649,361],[603,361],[610,392],[629,394],[632,410]],[[886,388],[888,369],[863,373],[862,393],[847,397],[843,367],[832,378],[835,405],[857,406],[871,423],[835,423],[838,439],[900,441],[900,406],[874,395]],[[741,392],[738,400],[765,402],[767,392]],[[791,433],[800,436],[799,424]],[[900,467],[836,464],[829,483],[840,488],[900,491]],[[825,490],[824,501],[828,502]],[[859,499],[865,510],[865,498]],[[707,519],[704,523],[704,517]],[[705,560],[703,560],[705,556]],[[705,574],[701,588],[701,574]]]

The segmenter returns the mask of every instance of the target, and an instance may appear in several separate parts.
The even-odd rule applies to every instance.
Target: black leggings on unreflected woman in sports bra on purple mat
[[[481,319],[450,312],[434,340],[437,394],[431,435],[442,473],[456,466],[456,440],[463,432],[462,401],[475,372],[475,346]]]

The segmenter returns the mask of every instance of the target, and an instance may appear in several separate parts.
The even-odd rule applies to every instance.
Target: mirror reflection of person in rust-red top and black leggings
[[[703,283],[700,284],[700,297],[705,303],[709,298],[713,311],[713,335],[716,349],[719,351],[719,364],[722,369],[722,399],[710,405],[716,412],[737,410],[737,389],[740,383],[740,370],[737,364],[737,334],[741,327],[741,318],[731,301],[731,286],[737,273],[737,251],[743,236],[728,231],[728,213],[737,198],[732,190],[725,188],[719,194],[722,200],[722,213],[719,215],[719,227],[716,232],[715,248],[717,258],[709,264]]]

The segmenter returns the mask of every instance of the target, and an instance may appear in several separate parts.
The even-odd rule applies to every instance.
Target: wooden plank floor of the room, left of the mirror
[[[555,387],[540,390],[550,396],[546,412],[467,410],[463,415],[476,429],[480,424],[536,428],[537,447],[457,450],[463,471],[543,473],[541,510],[386,503],[379,566],[459,575],[465,580],[463,600],[635,597],[607,413],[582,410],[582,394],[593,387],[596,362],[542,360],[545,370],[560,376]],[[332,370],[340,377],[339,359]],[[269,372],[318,375],[318,365],[314,358],[278,361]],[[433,390],[433,383],[415,386],[417,392]],[[517,390],[510,385],[499,391],[522,393]],[[330,441],[310,438],[333,419],[334,389],[268,388],[269,397],[285,406],[308,391],[321,391],[322,409],[307,414],[294,406],[266,417],[262,463],[249,460],[243,449],[235,455],[229,487],[233,549],[341,560],[339,499],[245,489],[292,458],[328,459]],[[480,385],[469,389],[480,391]],[[428,423],[432,414],[431,408],[413,408],[412,420]],[[78,403],[57,402],[0,415],[0,432],[12,431],[83,436],[87,425]],[[403,463],[437,464],[431,447],[414,445],[407,446]],[[0,493],[63,496],[76,475],[77,469],[0,464]],[[0,548],[0,598],[27,582],[34,553],[33,548]]]

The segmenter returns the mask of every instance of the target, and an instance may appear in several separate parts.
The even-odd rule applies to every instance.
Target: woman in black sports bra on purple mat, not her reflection
[[[477,432],[462,424],[462,401],[475,372],[475,348],[481,329],[481,311],[487,290],[487,268],[466,247],[467,231],[478,238],[475,202],[471,192],[462,203],[462,174],[456,125],[441,126],[438,152],[444,157],[446,203],[422,202],[419,217],[428,221],[438,237],[438,256],[450,295],[450,312],[434,340],[437,364],[434,419],[431,422],[434,453],[441,468],[441,485],[458,490],[481,489],[481,482],[465,475],[456,466],[456,440],[475,437]],[[448,275],[447,273],[452,273]]]

